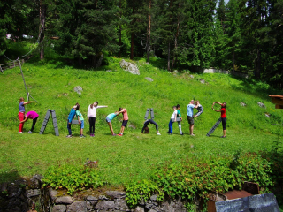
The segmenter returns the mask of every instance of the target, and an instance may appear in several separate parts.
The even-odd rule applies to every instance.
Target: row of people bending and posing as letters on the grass
[[[33,125],[31,127],[30,131],[28,131],[28,133],[33,133],[34,126],[36,124],[37,118],[39,117],[38,114],[35,111],[29,111],[29,112],[27,112],[27,114],[25,114],[25,112],[26,112],[25,111],[25,105],[27,105],[29,103],[34,103],[34,102],[25,102],[23,97],[19,98],[19,114],[18,114],[18,116],[19,116],[19,133],[23,133],[23,126],[24,126],[24,123],[27,121],[27,119],[33,119]],[[221,110],[215,110],[213,108],[213,106],[216,103],[221,105]],[[98,108],[107,108],[107,107],[108,106],[98,106],[97,101],[88,106],[89,135],[91,137],[95,136],[96,110]],[[181,121],[183,120],[183,118],[181,117],[181,114],[180,114],[180,104],[173,106],[172,109],[173,109],[173,113],[172,113],[172,116],[170,118],[169,131],[167,133],[172,134],[172,125],[173,125],[174,122],[177,122],[178,127],[179,127],[179,131],[180,131],[180,135],[183,135],[184,133],[182,132],[182,129],[181,129]],[[195,113],[195,115],[194,115],[194,109],[198,110],[197,113]],[[226,138],[226,102],[224,102],[224,103],[213,102],[212,110],[215,110],[217,112],[221,112],[221,119],[222,119],[222,126],[223,126],[223,136],[222,136],[222,138]],[[116,134],[113,131],[111,121],[115,117],[118,117],[120,113],[122,113],[122,115],[123,115],[123,122],[122,122],[119,134]],[[191,100],[191,102],[187,105],[187,121],[188,121],[188,124],[189,124],[189,133],[190,133],[191,136],[195,136],[195,134],[194,134],[194,125],[195,125],[194,118],[199,117],[202,113],[203,113],[203,106],[200,104],[200,102]],[[83,134],[84,118],[83,118],[82,114],[80,113],[80,104],[79,103],[76,103],[69,113],[68,121],[67,121],[67,129],[68,129],[69,134],[66,137],[72,138],[71,125],[72,125],[73,118],[75,116],[77,117],[78,122],[80,124],[80,138],[84,138],[84,137],[86,137]],[[106,122],[109,125],[111,134],[113,136],[116,136],[116,135],[123,136],[125,127],[126,127],[127,122],[128,122],[128,115],[127,115],[126,108],[119,108],[118,111],[115,111],[115,112],[109,114],[106,117]],[[157,123],[155,121],[153,121],[152,119],[147,119],[143,123],[142,133],[148,129],[149,124],[156,125],[157,135],[161,135],[159,133]]]

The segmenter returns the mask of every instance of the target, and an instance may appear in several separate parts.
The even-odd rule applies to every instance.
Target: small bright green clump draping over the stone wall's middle
[[[136,206],[140,201],[148,201],[152,194],[157,194],[157,201],[164,200],[164,193],[151,180],[142,179],[139,182],[132,182],[126,186],[126,202],[130,207]]]

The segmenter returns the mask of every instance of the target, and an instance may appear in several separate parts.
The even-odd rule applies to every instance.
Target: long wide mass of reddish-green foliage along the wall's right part
[[[256,154],[237,154],[237,165],[231,167],[232,157],[192,157],[181,163],[165,163],[157,167],[151,181],[142,180],[126,186],[126,201],[135,206],[142,199],[147,201],[152,193],[164,194],[172,199],[181,197],[192,209],[195,195],[208,198],[210,191],[226,193],[240,189],[244,181],[257,183],[261,193],[268,193],[273,186],[272,163]],[[161,191],[161,192],[160,192]],[[194,208],[194,207],[193,207]]]

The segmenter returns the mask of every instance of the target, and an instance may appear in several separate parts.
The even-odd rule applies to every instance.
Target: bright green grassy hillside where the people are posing
[[[119,60],[111,57],[107,66],[96,71],[69,66],[57,69],[57,64],[23,64],[28,90],[37,100],[26,110],[35,110],[40,115],[33,134],[18,134],[19,97],[27,99],[19,68],[0,75],[3,91],[0,102],[1,180],[44,173],[53,164],[83,164],[90,158],[99,161],[99,170],[107,181],[119,185],[131,179],[148,178],[157,164],[168,160],[195,154],[232,155],[240,148],[242,152],[258,152],[272,149],[273,141],[282,140],[279,124],[283,123],[283,110],[275,110],[268,97],[274,95],[270,92],[278,91],[271,91],[265,84],[224,74],[170,73],[160,69],[162,61],[157,58],[152,58],[152,64],[146,64],[144,59],[136,61],[141,75],[132,75],[121,70]],[[202,84],[200,79],[206,83]],[[83,88],[81,95],[73,91],[76,86]],[[176,124],[173,135],[168,135],[172,106],[179,103],[181,114],[186,117],[191,99],[199,100],[204,108],[201,117],[195,118],[195,137],[189,136],[186,120],[182,122],[184,136],[180,136]],[[97,110],[96,137],[81,139],[79,126],[73,125],[74,136],[66,139],[66,118],[73,105],[79,102],[80,112],[87,118],[88,105],[94,101],[108,105],[108,108]],[[226,139],[219,138],[221,126],[206,137],[220,116],[210,109],[215,101],[227,102]],[[240,102],[247,106],[241,107]],[[266,109],[260,108],[257,102],[264,102]],[[123,137],[112,137],[105,117],[119,107],[128,111],[129,123]],[[154,108],[161,136],[156,135],[153,125],[149,125],[150,134],[141,133],[147,108]],[[51,123],[43,135],[38,134],[48,109],[56,110],[58,137]],[[119,133],[121,118],[120,115],[112,122],[115,133]],[[31,121],[25,124],[25,132],[31,124]],[[84,134],[88,135],[88,121]]]

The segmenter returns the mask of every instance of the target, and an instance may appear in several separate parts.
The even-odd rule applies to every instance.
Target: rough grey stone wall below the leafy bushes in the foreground
[[[157,201],[157,195],[152,195],[149,201],[141,201],[136,208],[126,204],[126,193],[106,191],[98,195],[88,195],[77,198],[53,190],[42,189],[42,177],[34,175],[30,180],[18,180],[0,185],[0,212],[88,212],[88,211],[186,211],[181,200]],[[34,210],[32,210],[34,205]]]

